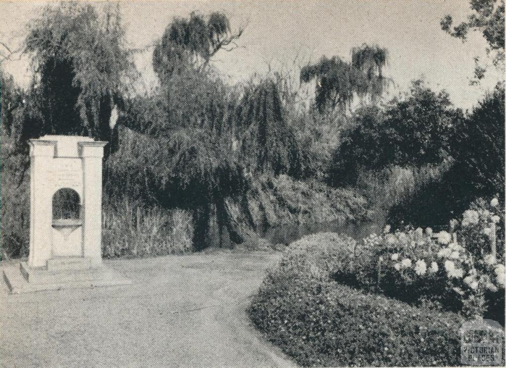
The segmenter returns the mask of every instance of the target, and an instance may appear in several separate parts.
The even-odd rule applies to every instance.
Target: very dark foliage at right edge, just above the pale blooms
[[[479,197],[504,196],[504,86],[492,94],[465,119],[459,119],[449,140],[452,167],[435,181],[429,181],[411,198],[394,205],[389,222],[401,220],[420,226],[448,221],[467,209]]]

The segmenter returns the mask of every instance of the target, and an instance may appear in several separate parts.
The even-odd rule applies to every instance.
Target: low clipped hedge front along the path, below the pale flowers
[[[286,268],[269,275],[249,315],[302,366],[459,364],[459,315],[364,294]]]

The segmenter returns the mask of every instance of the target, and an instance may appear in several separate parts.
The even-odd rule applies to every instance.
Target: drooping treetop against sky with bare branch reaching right
[[[242,29],[232,34],[230,20],[221,12],[208,17],[192,12],[188,19],[176,18],[156,42],[153,69],[162,83],[188,69],[201,70],[241,34]]]

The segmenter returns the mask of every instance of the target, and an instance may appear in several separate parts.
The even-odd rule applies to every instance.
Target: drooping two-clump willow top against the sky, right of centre
[[[384,93],[389,79],[384,77],[387,49],[363,44],[351,51],[348,63],[339,57],[322,57],[301,69],[301,83],[316,81],[315,104],[320,112],[348,108],[354,97],[369,96],[373,101]]]

